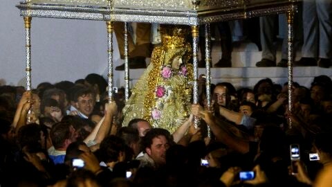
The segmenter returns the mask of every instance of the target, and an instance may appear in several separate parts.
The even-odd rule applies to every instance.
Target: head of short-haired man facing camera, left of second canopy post
[[[78,89],[74,94],[74,102],[75,108],[79,112],[89,116],[93,112],[93,107],[95,107],[95,94],[91,89]]]

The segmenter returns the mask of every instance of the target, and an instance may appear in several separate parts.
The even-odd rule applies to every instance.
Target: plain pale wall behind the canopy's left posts
[[[0,79],[25,85],[26,54],[23,17],[18,1],[0,6]],[[114,39],[115,66],[120,64]],[[31,28],[32,83],[75,81],[107,69],[107,29],[104,21],[33,17]],[[21,82],[21,83],[20,83]]]

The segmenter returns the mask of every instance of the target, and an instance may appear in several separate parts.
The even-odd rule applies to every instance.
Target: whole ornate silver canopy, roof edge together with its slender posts
[[[210,56],[209,23],[246,19],[287,12],[288,19],[288,109],[291,111],[293,82],[293,11],[300,0],[26,0],[17,5],[26,28],[26,77],[30,89],[30,24],[32,17],[90,19],[106,21],[108,33],[109,98],[113,88],[113,21],[181,24],[192,26],[192,57],[194,65],[193,103],[198,103],[199,25],[205,24],[205,53]],[[190,33],[188,33],[190,34]],[[127,41],[127,24],[124,24]],[[125,98],[129,96],[127,44],[125,54]],[[206,58],[206,90],[210,93],[210,59]],[[208,96],[210,97],[210,96]],[[208,98],[210,105],[210,98]],[[289,119],[290,121],[290,119]],[[195,125],[198,124],[198,118]],[[290,124],[291,125],[291,124]]]

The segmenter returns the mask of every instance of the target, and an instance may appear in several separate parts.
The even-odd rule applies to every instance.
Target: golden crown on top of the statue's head
[[[161,44],[166,48],[181,48],[187,43],[188,26],[160,25]]]

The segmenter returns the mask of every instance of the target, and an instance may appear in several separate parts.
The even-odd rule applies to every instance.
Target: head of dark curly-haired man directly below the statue
[[[166,150],[172,144],[171,134],[164,129],[149,130],[142,138],[142,150],[146,152],[157,166],[166,163]]]

